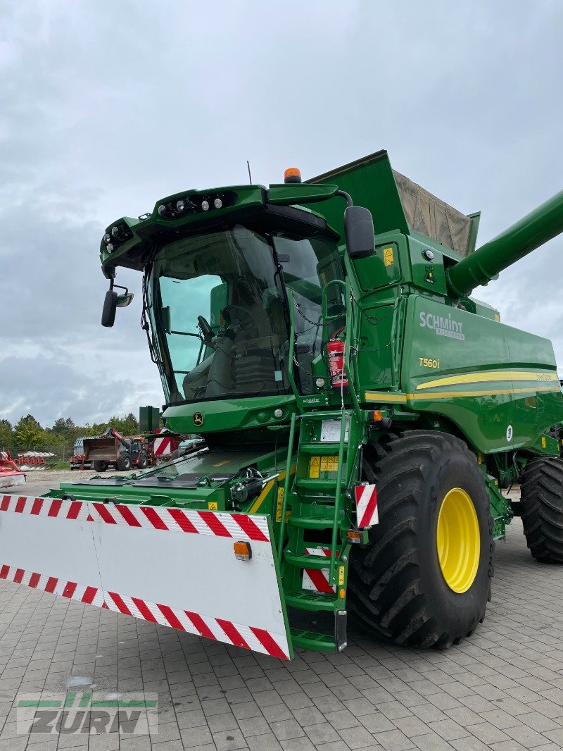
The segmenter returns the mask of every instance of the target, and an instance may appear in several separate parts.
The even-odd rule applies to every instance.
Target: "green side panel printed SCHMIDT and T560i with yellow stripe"
[[[563,412],[552,345],[540,336],[413,294],[402,353],[408,409],[449,418],[477,451],[531,446]]]

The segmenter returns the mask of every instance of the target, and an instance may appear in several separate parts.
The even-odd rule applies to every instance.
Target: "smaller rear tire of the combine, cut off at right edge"
[[[550,457],[528,462],[520,502],[532,556],[542,563],[563,563],[563,461]]]

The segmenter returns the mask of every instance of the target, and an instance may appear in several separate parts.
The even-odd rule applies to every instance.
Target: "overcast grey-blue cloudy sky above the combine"
[[[0,0],[0,418],[163,402],[140,273],[100,325],[104,228],[183,189],[385,148],[478,244],[563,188],[560,0]],[[377,224],[377,218],[375,219]],[[476,297],[551,338],[563,238]],[[560,369],[563,372],[563,368]]]

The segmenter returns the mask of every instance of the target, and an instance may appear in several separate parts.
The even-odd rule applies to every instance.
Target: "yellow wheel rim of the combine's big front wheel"
[[[471,498],[461,487],[444,496],[436,528],[438,561],[444,580],[453,592],[467,592],[479,568],[480,534]]]

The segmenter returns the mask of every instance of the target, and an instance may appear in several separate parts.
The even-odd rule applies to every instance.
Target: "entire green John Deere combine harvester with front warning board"
[[[552,345],[471,296],[563,230],[563,192],[476,249],[478,225],[384,151],[113,222],[102,323],[140,271],[164,424],[206,445],[5,496],[0,575],[280,659],[344,649],[348,611],[408,647],[471,635],[513,516],[563,562]]]

